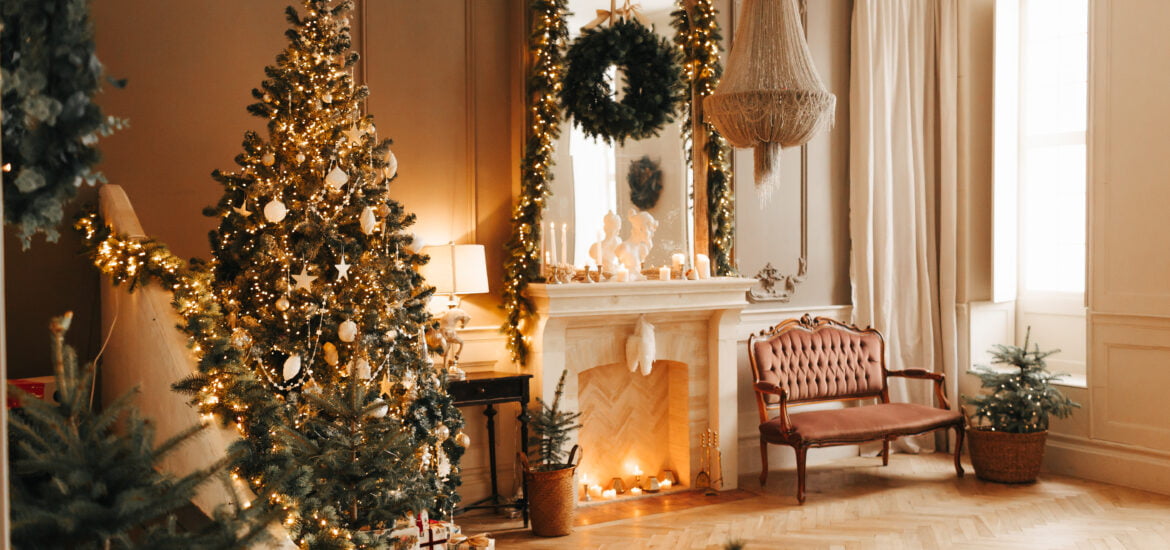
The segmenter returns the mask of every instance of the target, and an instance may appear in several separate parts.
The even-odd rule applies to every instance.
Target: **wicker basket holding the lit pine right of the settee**
[[[968,429],[975,475],[1000,483],[1031,483],[1040,474],[1048,432],[1006,433]]]

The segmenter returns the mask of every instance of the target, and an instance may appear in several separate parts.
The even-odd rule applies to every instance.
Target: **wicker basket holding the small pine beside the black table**
[[[542,537],[563,537],[573,530],[577,516],[577,486],[573,474],[580,466],[580,452],[574,445],[564,468],[548,472],[534,470],[524,453],[516,453],[524,466],[524,494],[532,534]],[[573,462],[576,456],[577,461]]]

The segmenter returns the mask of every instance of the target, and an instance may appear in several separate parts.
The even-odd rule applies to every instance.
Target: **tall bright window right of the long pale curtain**
[[[1017,344],[1086,364],[1088,0],[996,4],[996,300],[1016,300]]]

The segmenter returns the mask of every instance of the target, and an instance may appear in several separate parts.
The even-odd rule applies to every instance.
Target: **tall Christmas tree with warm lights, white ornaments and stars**
[[[238,421],[236,473],[309,548],[379,548],[398,517],[449,514],[462,453],[425,343],[414,215],[387,194],[398,163],[353,81],[351,8],[287,11],[289,44],[248,108],[267,135],[213,173],[211,286],[229,345],[180,384]]]

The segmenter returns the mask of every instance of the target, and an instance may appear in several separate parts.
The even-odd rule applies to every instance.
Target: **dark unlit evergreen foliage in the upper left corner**
[[[57,240],[64,206],[82,183],[105,181],[92,170],[102,158],[95,144],[125,122],[94,103],[103,71],[89,2],[6,0],[0,21],[4,219],[28,248],[37,233]]]

